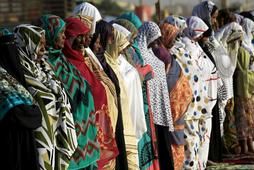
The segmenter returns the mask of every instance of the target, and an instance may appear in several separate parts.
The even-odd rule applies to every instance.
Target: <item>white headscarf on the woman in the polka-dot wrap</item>
[[[205,31],[208,30],[208,26],[202,19],[196,16],[191,16],[186,20],[188,28],[185,29],[185,35],[190,39],[200,37]]]

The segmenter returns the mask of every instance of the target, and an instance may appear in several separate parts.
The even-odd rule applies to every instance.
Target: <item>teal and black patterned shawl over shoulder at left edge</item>
[[[0,67],[0,120],[10,109],[21,104],[32,105],[32,96],[16,79]]]

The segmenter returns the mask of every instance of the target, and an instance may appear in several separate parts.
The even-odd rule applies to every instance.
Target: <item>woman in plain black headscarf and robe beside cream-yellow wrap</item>
[[[114,40],[114,28],[111,24],[107,23],[106,21],[99,21],[96,24],[96,30],[93,35],[92,41],[90,43],[91,49],[96,49],[97,45],[96,42],[99,43],[100,49],[98,49],[98,52],[96,53],[96,57],[100,61],[103,70],[107,74],[107,76],[110,78],[110,80],[114,83],[116,88],[116,94],[117,94],[117,109],[118,109],[118,115],[116,120],[116,142],[117,147],[119,150],[119,155],[116,158],[116,169],[124,169],[128,170],[128,162],[127,162],[127,155],[126,155],[126,146],[125,146],[125,140],[124,140],[124,127],[123,127],[123,114],[122,114],[122,106],[121,106],[121,88],[120,83],[118,81],[118,77],[115,74],[114,70],[111,68],[111,66],[107,63],[106,57],[105,57],[105,51],[108,46],[108,44],[111,44]],[[98,40],[99,39],[99,40]]]

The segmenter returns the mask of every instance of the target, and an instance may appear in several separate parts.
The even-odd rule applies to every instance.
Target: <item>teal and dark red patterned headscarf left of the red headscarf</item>
[[[45,30],[47,45],[54,47],[59,33],[65,26],[65,22],[59,16],[48,14],[43,15],[40,18],[40,24],[40,26]]]

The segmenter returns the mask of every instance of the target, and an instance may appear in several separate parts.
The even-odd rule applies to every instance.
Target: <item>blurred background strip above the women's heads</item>
[[[156,18],[155,3],[160,1],[161,19],[170,14],[191,15],[193,6],[202,0],[0,0],[0,27],[13,27],[32,23],[42,14],[55,14],[63,18],[71,15],[73,8],[82,2],[93,3],[106,20],[126,11],[135,11],[144,20]],[[254,0],[213,0],[219,8],[236,12],[254,9]]]

